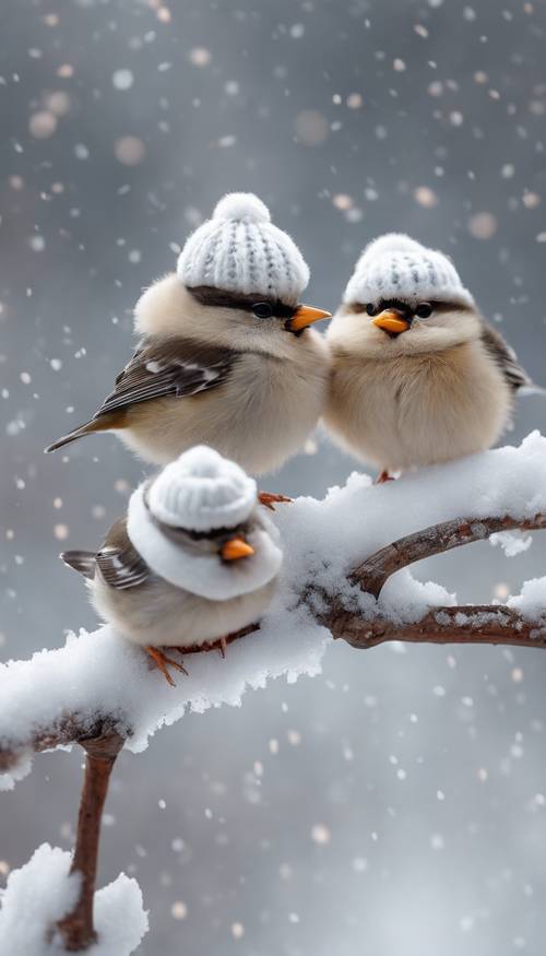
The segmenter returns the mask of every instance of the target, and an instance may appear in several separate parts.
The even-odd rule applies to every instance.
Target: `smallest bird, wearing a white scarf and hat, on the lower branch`
[[[217,646],[257,622],[282,563],[278,532],[257,486],[217,451],[198,446],[133,492],[98,552],[67,551],[100,617],[141,645],[174,684],[165,654]],[[185,673],[187,673],[185,671]]]

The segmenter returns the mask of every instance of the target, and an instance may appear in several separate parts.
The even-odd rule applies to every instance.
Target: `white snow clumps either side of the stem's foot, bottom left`
[[[55,956],[64,952],[55,924],[74,906],[79,874],[70,875],[71,854],[43,843],[0,893],[0,953]],[[119,919],[119,913],[123,919]],[[124,873],[95,895],[98,940],[88,956],[130,956],[147,932],[147,914],[135,880]],[[51,937],[51,931],[54,935]],[[48,939],[49,937],[49,939]]]

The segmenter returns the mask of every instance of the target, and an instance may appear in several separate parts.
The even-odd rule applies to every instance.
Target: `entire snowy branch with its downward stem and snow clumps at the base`
[[[526,581],[506,605],[458,606],[455,594],[408,569],[487,538],[511,556],[527,546],[515,531],[546,528],[546,439],[537,433],[519,448],[381,486],[355,473],[323,501],[299,498],[275,520],[285,560],[273,605],[234,636],[225,660],[187,654],[189,675],[176,688],[108,626],[0,666],[0,787],[28,772],[35,751],[80,743],[86,752],[74,853],[44,845],[10,875],[0,949],[15,942],[27,956],[129,956],[138,947],[147,930],[138,884],[120,874],[95,894],[104,802],[121,747],[144,750],[186,709],[239,704],[269,677],[316,674],[332,638],[356,648],[385,640],[546,648],[546,578]]]

